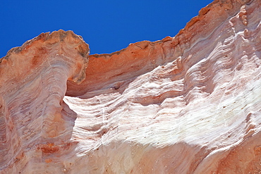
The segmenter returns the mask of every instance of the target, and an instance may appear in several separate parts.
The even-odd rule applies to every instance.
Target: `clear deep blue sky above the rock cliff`
[[[0,0],[0,58],[42,32],[73,30],[90,54],[174,37],[212,0]]]

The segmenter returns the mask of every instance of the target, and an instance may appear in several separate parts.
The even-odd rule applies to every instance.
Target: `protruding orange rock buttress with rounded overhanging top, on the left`
[[[53,144],[71,144],[75,114],[66,113],[63,97],[67,80],[78,84],[85,79],[88,51],[83,39],[59,30],[41,34],[1,59],[0,166],[12,168],[6,173],[18,173],[30,163],[33,167],[37,149],[49,153],[56,151]]]

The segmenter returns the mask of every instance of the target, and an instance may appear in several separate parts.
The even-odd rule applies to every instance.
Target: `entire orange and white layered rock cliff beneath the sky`
[[[0,173],[261,173],[261,1],[88,55],[73,32],[0,63]]]

